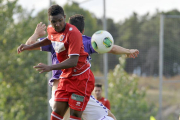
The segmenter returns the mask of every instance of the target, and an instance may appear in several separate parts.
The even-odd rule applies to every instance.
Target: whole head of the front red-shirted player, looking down
[[[66,15],[64,15],[64,10],[61,6],[52,5],[48,9],[48,17],[52,27],[55,29],[56,32],[61,32],[64,30],[66,25]]]

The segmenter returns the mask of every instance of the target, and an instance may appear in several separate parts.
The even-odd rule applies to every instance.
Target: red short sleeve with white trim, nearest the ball
[[[68,55],[79,55],[83,44],[81,33],[79,31],[72,31],[68,37]]]

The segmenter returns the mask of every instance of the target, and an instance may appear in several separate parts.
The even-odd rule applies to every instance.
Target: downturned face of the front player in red
[[[64,30],[66,25],[65,18],[66,16],[62,14],[49,16],[49,21],[56,32],[62,32]]]

